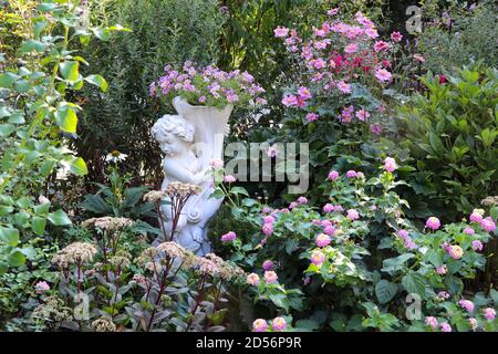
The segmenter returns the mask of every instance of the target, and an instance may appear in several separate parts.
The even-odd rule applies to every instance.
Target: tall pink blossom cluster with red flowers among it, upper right
[[[339,9],[328,13],[335,15]],[[375,24],[361,12],[355,14],[354,23],[334,18],[312,30],[312,37],[303,40],[295,29],[277,27],[274,37],[281,38],[287,50],[302,62],[313,90],[317,87],[318,92],[323,93],[335,90],[340,95],[349,95],[355,82],[364,82],[369,77],[381,84],[392,81],[388,56],[395,43],[403,39],[400,32],[393,32],[391,40],[377,40]],[[286,94],[282,103],[288,107],[304,107],[312,96],[309,87],[300,86],[297,94]],[[366,122],[370,115],[364,108],[355,111],[353,105],[349,105],[343,108],[339,119],[351,123],[356,117]],[[309,113],[307,119],[313,122],[318,115]]]

